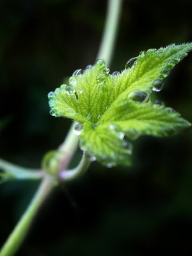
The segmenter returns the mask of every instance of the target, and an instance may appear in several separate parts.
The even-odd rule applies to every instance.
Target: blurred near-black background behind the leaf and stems
[[[1,0],[0,156],[38,168],[71,121],[49,115],[47,93],[95,62],[107,1]],[[192,3],[124,1],[111,71],[140,51],[192,41]],[[156,97],[192,122],[192,55]],[[54,191],[19,256],[190,255],[192,131],[134,142],[131,168],[93,163],[86,175]],[[76,161],[81,157],[77,152]],[[10,234],[37,182],[0,187],[0,243]]]

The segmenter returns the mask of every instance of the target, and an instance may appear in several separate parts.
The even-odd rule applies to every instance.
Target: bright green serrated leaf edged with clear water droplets
[[[141,52],[122,72],[109,74],[103,60],[76,70],[69,84],[50,92],[51,115],[76,120],[80,147],[107,166],[131,164],[132,145],[141,134],[168,136],[190,124],[172,108],[150,101],[192,43]]]

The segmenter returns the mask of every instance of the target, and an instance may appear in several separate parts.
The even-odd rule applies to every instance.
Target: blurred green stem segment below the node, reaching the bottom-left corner
[[[31,227],[31,222],[40,208],[40,205],[44,202],[45,198],[49,195],[52,189],[52,179],[51,177],[45,177],[42,180],[35,196],[31,200],[29,207],[26,209],[19,223],[13,230],[12,234],[8,237],[3,248],[1,248],[0,256],[13,256],[19,250],[20,244],[24,241],[24,238],[28,234],[29,228]]]

